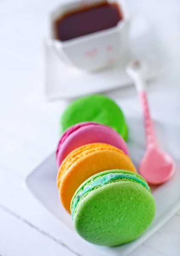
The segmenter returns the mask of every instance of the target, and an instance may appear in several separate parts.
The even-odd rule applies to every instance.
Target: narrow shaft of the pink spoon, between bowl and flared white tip
[[[146,96],[145,82],[144,82],[144,79],[141,78],[141,76],[136,77],[135,86],[138,91],[139,98],[141,100],[144,127],[145,127],[145,133],[146,133],[146,147],[149,148],[152,145],[153,146],[157,145],[157,141],[156,141],[153,121],[149,112],[149,104]]]

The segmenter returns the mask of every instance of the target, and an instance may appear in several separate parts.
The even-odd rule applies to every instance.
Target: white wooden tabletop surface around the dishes
[[[59,239],[59,222],[22,186],[55,149],[58,119],[68,104],[47,103],[43,91],[42,39],[48,12],[59,2],[0,1],[0,256],[77,255]],[[168,72],[152,81],[148,92],[153,117],[174,128],[173,149],[180,134],[180,1],[127,3],[131,13],[152,21],[169,54]],[[141,116],[133,88],[109,95],[125,112],[130,107]],[[180,159],[178,151],[172,154]],[[130,255],[179,256],[180,211]]]

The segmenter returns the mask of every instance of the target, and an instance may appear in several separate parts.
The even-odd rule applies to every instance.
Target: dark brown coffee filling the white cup
[[[123,15],[117,3],[107,1],[67,12],[53,23],[55,39],[68,41],[118,24]]]

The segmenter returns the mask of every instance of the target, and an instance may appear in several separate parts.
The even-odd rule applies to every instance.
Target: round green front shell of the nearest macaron
[[[116,246],[137,239],[155,216],[155,201],[142,185],[114,182],[89,192],[78,204],[74,226],[85,240]]]

